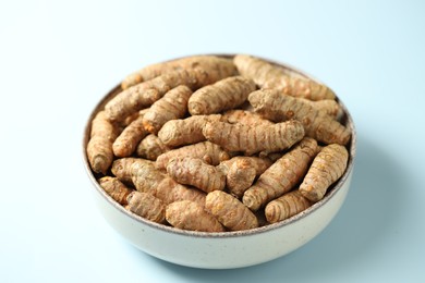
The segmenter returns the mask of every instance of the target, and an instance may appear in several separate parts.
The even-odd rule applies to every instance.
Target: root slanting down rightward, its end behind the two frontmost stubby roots
[[[153,165],[134,163],[131,174],[138,192],[149,193],[166,205],[178,200],[192,200],[202,206],[205,204],[205,193],[177,183]]]

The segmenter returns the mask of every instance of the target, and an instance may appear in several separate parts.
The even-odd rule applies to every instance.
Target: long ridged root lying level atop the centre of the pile
[[[209,122],[203,134],[228,151],[243,151],[251,156],[259,151],[274,152],[290,148],[303,138],[304,127],[295,120],[269,126]]]

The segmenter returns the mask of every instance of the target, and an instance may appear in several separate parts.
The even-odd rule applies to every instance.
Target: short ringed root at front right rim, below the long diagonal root
[[[312,202],[296,189],[268,202],[265,214],[267,222],[276,223],[293,217],[311,206]]]

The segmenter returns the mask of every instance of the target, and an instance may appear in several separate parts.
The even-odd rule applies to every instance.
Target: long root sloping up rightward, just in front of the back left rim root
[[[206,65],[205,67],[179,69],[165,73],[121,91],[108,101],[105,106],[105,111],[110,121],[123,121],[139,109],[151,106],[174,87],[185,85],[192,90],[196,90],[199,87],[233,75],[232,72],[222,72],[226,70],[207,69]]]

